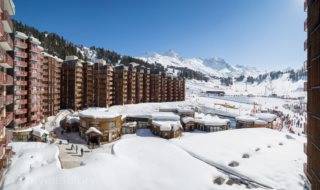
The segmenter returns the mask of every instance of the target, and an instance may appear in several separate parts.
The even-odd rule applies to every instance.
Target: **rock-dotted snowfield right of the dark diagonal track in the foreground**
[[[172,140],[201,160],[275,189],[303,189],[305,138],[272,129],[237,129]],[[238,163],[231,167],[230,163]]]

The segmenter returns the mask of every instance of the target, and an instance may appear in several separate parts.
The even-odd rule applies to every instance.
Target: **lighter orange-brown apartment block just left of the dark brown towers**
[[[43,103],[45,117],[56,115],[60,110],[60,76],[63,60],[48,53],[42,53]]]

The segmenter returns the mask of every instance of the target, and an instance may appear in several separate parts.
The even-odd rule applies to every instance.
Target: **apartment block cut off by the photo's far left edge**
[[[11,0],[0,0],[0,14],[0,172],[3,173],[11,154],[6,127],[13,124],[13,40],[9,34],[13,32],[10,17],[15,14],[15,7]]]

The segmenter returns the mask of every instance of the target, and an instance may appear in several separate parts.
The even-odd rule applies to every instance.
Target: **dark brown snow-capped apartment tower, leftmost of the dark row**
[[[79,110],[83,106],[83,61],[77,56],[67,56],[61,69],[62,109]]]

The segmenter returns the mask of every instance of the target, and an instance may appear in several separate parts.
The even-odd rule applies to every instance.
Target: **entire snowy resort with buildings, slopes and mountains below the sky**
[[[320,1],[304,4],[308,60],[262,71],[76,45],[0,0],[1,189],[320,189]]]

